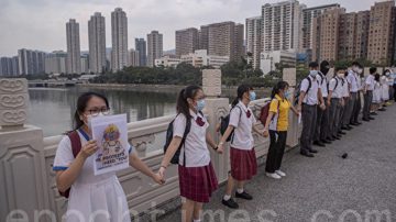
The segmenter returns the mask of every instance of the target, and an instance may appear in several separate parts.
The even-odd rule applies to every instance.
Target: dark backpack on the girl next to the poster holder
[[[201,113],[201,112],[199,112],[199,113]],[[176,118],[177,118],[177,115],[176,115]],[[164,154],[166,153],[166,151],[169,147],[169,144],[170,144],[172,140],[173,140],[173,133],[174,133],[173,124],[174,124],[176,118],[169,123],[169,125],[168,125],[168,127],[166,130],[166,141],[165,141],[165,145],[164,145]],[[179,156],[180,156],[180,152],[182,152],[182,146],[185,144],[186,137],[187,137],[188,133],[190,132],[190,130],[191,130],[191,119],[186,118],[186,129],[185,129],[185,132],[183,134],[180,145],[178,146],[175,155],[170,159],[170,164],[178,164],[179,163]],[[184,152],[183,166],[186,166],[186,152]]]

